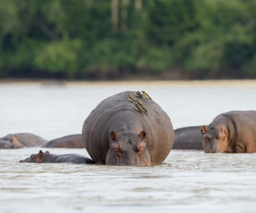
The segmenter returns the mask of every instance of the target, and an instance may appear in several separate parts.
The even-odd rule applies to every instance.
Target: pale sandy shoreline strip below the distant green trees
[[[68,80],[52,80],[52,79],[0,79],[1,84],[41,84],[42,86],[82,86],[82,85],[98,85],[102,86],[118,86],[128,84],[132,85],[146,85],[150,87],[167,86],[167,87],[256,87],[256,79],[243,80],[150,80],[150,81],[68,81]],[[150,83],[150,85],[148,85]]]

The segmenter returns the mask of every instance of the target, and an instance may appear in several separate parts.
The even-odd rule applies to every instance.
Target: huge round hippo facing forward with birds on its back
[[[148,115],[135,110],[126,91],[103,100],[84,121],[82,136],[90,157],[99,164],[162,163],[174,141],[170,118],[155,102],[140,101]]]

